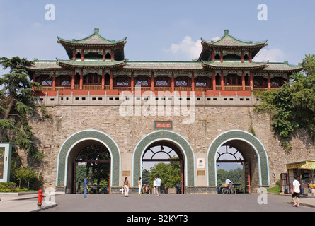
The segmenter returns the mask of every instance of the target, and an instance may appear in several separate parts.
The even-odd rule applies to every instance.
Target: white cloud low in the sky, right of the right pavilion
[[[253,58],[255,62],[283,62],[286,55],[281,49],[261,49],[258,54]]]

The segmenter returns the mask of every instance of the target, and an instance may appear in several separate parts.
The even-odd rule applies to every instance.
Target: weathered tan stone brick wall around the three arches
[[[35,133],[35,144],[45,153],[40,169],[45,186],[55,186],[57,159],[62,143],[73,133],[86,129],[103,131],[113,138],[121,152],[121,172],[132,172],[132,153],[137,143],[154,130],[154,121],[173,121],[173,132],[181,134],[190,143],[197,158],[207,159],[207,150],[219,134],[229,130],[250,132],[250,125],[258,140],[268,153],[270,185],[274,186],[280,173],[287,172],[285,163],[297,160],[315,159],[314,146],[305,131],[299,131],[291,139],[292,150],[287,151],[273,133],[267,114],[253,113],[253,107],[246,106],[197,106],[195,122],[183,124],[183,116],[130,116],[121,117],[119,106],[47,106],[52,119],[40,120],[33,117],[30,122]],[[207,186],[205,175],[197,175],[196,186]],[[275,177],[273,177],[275,175]],[[122,175],[123,176],[123,175]]]

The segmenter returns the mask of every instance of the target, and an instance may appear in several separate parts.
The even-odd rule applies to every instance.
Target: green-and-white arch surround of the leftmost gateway
[[[71,189],[71,179],[69,179],[68,171],[71,170],[69,166],[69,159],[71,158],[71,150],[76,149],[77,146],[86,141],[96,141],[105,145],[110,152],[110,185],[111,187],[120,186],[120,150],[113,138],[110,138],[106,133],[96,130],[79,131],[72,134],[62,144],[59,150],[57,162],[57,189],[67,191]]]

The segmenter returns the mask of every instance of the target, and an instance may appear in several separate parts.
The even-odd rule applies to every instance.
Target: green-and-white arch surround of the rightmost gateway
[[[218,149],[230,143],[234,146],[243,147],[247,150],[248,159],[252,165],[256,166],[257,183],[259,186],[269,186],[269,167],[268,155],[263,144],[251,133],[240,130],[231,130],[221,133],[214,138],[207,152],[207,184],[211,187],[217,187],[217,163],[216,155]],[[255,168],[253,168],[255,169]]]

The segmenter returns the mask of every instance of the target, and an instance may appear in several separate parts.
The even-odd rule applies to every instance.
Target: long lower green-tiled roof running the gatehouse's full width
[[[104,69],[122,66],[127,71],[205,71],[211,70],[256,70],[265,73],[293,73],[301,71],[301,66],[284,63],[244,62],[239,61],[102,61],[99,59],[85,59],[72,61],[57,59],[57,61],[35,61],[28,66],[31,71],[62,71],[70,69]]]

